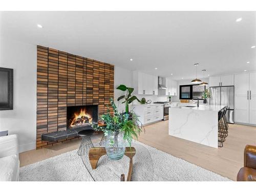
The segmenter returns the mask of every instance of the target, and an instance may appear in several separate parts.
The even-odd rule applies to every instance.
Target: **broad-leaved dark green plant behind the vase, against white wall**
[[[117,99],[117,101],[124,99],[124,101],[122,103],[125,103],[125,113],[129,113],[129,104],[131,102],[133,102],[134,100],[141,102],[136,96],[132,96],[134,88],[127,88],[124,84],[120,84],[120,86],[118,86],[116,89],[125,91],[125,95],[121,95]]]

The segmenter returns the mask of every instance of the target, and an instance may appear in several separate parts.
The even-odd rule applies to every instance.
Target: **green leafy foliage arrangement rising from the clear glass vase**
[[[123,139],[131,146],[133,137],[138,139],[138,135],[142,132],[143,125],[141,123],[139,124],[138,116],[133,111],[129,113],[119,113],[113,98],[110,99],[110,102],[114,114],[111,114],[108,106],[107,114],[100,116],[100,118],[105,121],[106,126],[93,125],[93,128],[96,131],[103,131],[105,136],[110,132],[116,134],[123,132]]]

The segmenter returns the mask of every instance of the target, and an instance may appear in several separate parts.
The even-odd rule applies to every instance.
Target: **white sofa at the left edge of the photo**
[[[19,157],[17,135],[0,137],[0,181],[18,181]]]

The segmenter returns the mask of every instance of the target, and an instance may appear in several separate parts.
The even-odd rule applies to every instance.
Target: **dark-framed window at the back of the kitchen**
[[[193,99],[198,97],[201,99],[205,86],[199,86],[199,84],[186,84],[180,86],[180,99]]]

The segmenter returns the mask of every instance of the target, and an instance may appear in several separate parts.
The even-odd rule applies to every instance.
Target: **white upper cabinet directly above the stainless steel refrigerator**
[[[234,85],[234,75],[209,77],[210,87],[233,86],[233,85]]]

